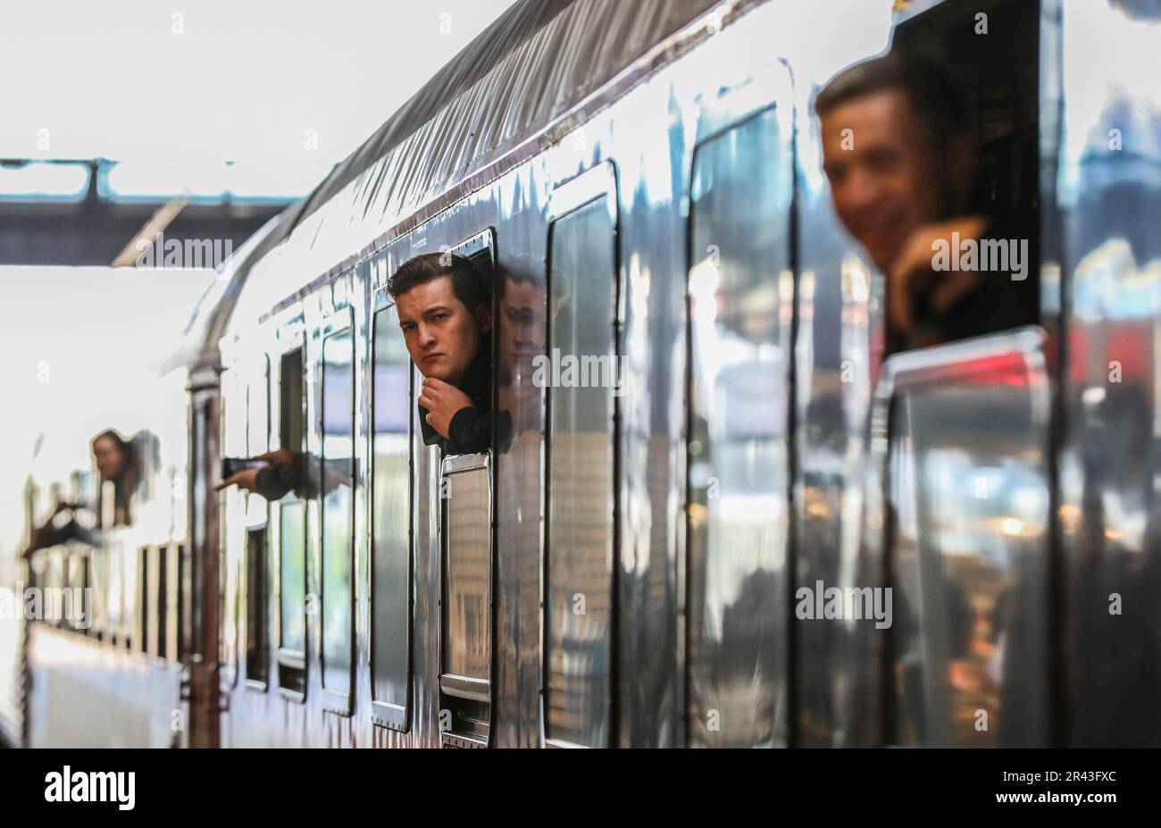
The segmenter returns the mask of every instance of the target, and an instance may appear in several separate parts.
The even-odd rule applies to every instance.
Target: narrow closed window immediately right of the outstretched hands
[[[346,327],[323,339],[322,361],[322,662],[323,691],[336,711],[349,712],[354,605],[354,336]]]

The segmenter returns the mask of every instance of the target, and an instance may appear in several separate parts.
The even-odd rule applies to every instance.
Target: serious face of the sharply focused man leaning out
[[[396,298],[396,309],[408,353],[419,373],[459,384],[476,357],[481,336],[491,327],[488,311],[469,311],[456,298],[450,276],[417,285]]]

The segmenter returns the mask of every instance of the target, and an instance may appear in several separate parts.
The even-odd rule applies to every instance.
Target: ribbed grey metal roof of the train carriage
[[[217,343],[230,324],[251,271],[290,240],[304,223],[311,225],[307,229],[311,229],[312,245],[324,206],[344,200],[340,213],[348,224],[418,210],[475,172],[512,157],[529,136],[543,132],[717,3],[515,3],[338,164],[313,192],[271,219],[235,253],[224,267],[223,279],[199,303],[185,344],[167,367],[217,363]],[[356,245],[373,240],[359,239]],[[336,264],[330,261],[324,269]]]

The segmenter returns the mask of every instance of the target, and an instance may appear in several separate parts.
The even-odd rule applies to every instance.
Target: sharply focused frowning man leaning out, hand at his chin
[[[419,391],[424,442],[448,454],[491,444],[491,291],[471,262],[427,253],[387,282],[408,353],[424,375]]]

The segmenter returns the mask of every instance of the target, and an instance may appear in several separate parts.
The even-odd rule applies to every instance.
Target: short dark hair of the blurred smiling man
[[[893,89],[907,95],[936,142],[969,130],[967,105],[954,78],[937,63],[901,52],[839,72],[819,92],[814,110],[822,116],[848,101]]]

